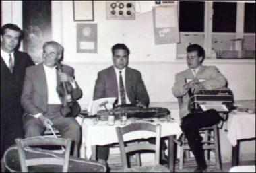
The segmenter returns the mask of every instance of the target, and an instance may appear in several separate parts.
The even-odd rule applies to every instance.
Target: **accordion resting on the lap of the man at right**
[[[210,109],[215,109],[217,112],[230,112],[233,108],[233,103],[233,94],[228,88],[189,92],[189,110],[192,113]]]

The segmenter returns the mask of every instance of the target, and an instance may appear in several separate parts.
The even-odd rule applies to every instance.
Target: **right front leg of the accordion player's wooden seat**
[[[220,143],[219,143],[219,134],[218,134],[218,127],[214,125],[214,145],[215,145],[215,162],[216,168],[222,170],[222,163],[220,157]]]

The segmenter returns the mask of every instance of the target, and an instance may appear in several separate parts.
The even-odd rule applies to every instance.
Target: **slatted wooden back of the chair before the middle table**
[[[117,137],[119,141],[119,148],[121,153],[121,160],[123,168],[129,168],[127,162],[127,153],[133,151],[149,150],[155,151],[155,161],[154,164],[159,164],[160,162],[160,134],[161,125],[152,125],[150,123],[131,123],[125,127],[116,127]],[[123,139],[123,135],[126,133],[131,133],[133,131],[152,131],[156,133],[156,144],[151,143],[132,143],[127,145]]]

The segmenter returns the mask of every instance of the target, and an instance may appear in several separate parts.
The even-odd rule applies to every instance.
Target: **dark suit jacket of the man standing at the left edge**
[[[19,114],[12,114],[11,111],[14,106],[21,108],[20,96],[22,95],[26,67],[34,65],[27,53],[15,51],[14,59],[13,73],[11,73],[1,57],[1,118],[3,114],[9,114],[13,117],[19,116]]]

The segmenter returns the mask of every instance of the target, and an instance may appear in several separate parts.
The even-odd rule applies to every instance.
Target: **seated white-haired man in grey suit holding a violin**
[[[26,69],[21,98],[25,137],[40,136],[49,125],[53,126],[61,132],[61,137],[74,141],[73,155],[78,156],[80,125],[72,114],[64,116],[61,108],[69,106],[70,100],[81,98],[82,90],[75,81],[74,69],[59,64],[62,57],[61,44],[45,42],[43,62]],[[61,69],[56,68],[57,64]]]

